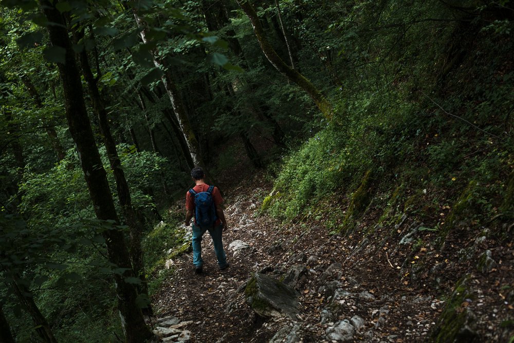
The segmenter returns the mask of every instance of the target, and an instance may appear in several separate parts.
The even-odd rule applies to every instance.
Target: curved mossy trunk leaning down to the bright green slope
[[[250,23],[253,26],[253,31],[255,32],[255,36],[259,41],[259,45],[261,46],[264,55],[268,59],[268,61],[278,70],[280,73],[285,75],[290,81],[295,82],[300,88],[302,88],[307,94],[314,100],[318,109],[327,119],[332,118],[332,105],[325,99],[325,97],[318,91],[307,78],[305,78],[302,74],[298,73],[295,69],[289,67],[287,64],[282,61],[277,52],[273,49],[271,44],[266,39],[266,35],[264,33],[264,29],[262,28],[261,22],[259,21],[259,17],[255,12],[252,4],[249,0],[237,0],[237,3],[243,11],[248,16]]]

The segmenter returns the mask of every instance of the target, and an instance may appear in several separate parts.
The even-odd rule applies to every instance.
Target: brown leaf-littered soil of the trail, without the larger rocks
[[[295,264],[306,265],[311,256],[318,259],[309,259],[309,272],[296,286],[301,294],[301,341],[328,341],[325,332],[333,323],[320,323],[327,299],[319,288],[335,278],[350,292],[367,291],[375,297],[373,301],[348,301],[339,315],[339,320],[354,315],[364,319],[364,328],[356,333],[355,341],[427,340],[456,282],[467,273],[471,274],[473,297],[457,304],[457,313],[472,309],[478,341],[507,342],[514,335],[512,324],[505,324],[514,319],[510,303],[514,299],[508,297],[514,289],[511,237],[500,240],[490,235],[477,245],[477,234],[456,230],[444,244],[435,244],[436,233],[420,231],[412,243],[401,245],[398,242],[416,222],[414,216],[407,217],[397,227],[397,234],[391,235],[395,230],[376,225],[380,213],[370,211],[356,230],[345,236],[328,232],[322,220],[281,223],[266,215],[254,218],[258,202],[270,191],[263,179],[255,175],[251,182],[225,190],[230,227],[223,240],[230,267],[218,269],[212,240],[206,233],[204,273],[196,275],[192,254],[183,254],[174,259],[172,276],[153,295],[154,309],[160,317],[173,315],[193,322],[187,327],[192,332],[191,341],[269,341],[290,319],[256,316],[245,301],[245,282],[259,271],[284,274]],[[240,213],[233,214],[235,208]],[[234,231],[244,214],[255,224]],[[242,240],[250,248],[233,256],[228,245],[234,240]],[[463,259],[459,250],[473,245],[478,252]],[[483,274],[476,263],[479,253],[486,249],[492,251],[497,266]],[[335,262],[341,263],[342,273],[325,280],[325,270]]]

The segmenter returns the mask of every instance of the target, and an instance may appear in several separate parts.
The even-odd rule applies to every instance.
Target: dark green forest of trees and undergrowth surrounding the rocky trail
[[[150,337],[195,165],[328,232],[512,234],[511,1],[0,4],[0,341]]]

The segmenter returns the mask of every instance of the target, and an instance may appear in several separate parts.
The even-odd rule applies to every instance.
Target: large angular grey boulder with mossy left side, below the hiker
[[[285,317],[296,320],[299,294],[288,285],[256,273],[245,288],[246,301],[261,317]]]

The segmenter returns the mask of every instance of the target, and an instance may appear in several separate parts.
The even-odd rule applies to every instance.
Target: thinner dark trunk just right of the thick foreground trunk
[[[76,43],[84,37],[83,31],[77,31],[72,29]],[[89,89],[89,95],[93,102],[93,109],[98,117],[98,123],[100,127],[100,136],[102,137],[105,150],[109,163],[111,164],[111,170],[113,171],[114,179],[116,182],[116,191],[118,193],[118,199],[120,202],[121,210],[125,218],[125,222],[130,230],[130,240],[128,244],[128,252],[132,261],[132,267],[136,276],[141,279],[139,284],[139,293],[148,295],[148,284],[146,284],[146,278],[144,273],[143,265],[143,250],[141,248],[141,234],[144,231],[142,224],[138,221],[138,216],[134,207],[132,206],[132,198],[130,195],[130,188],[128,187],[125,173],[121,167],[121,160],[116,150],[116,142],[111,134],[111,128],[109,128],[109,122],[107,120],[107,111],[105,111],[104,101],[100,95],[97,80],[91,71],[87,52],[85,49],[79,53],[80,64],[82,66],[82,73]],[[148,307],[144,308],[145,314],[151,315],[152,308],[149,304]]]

